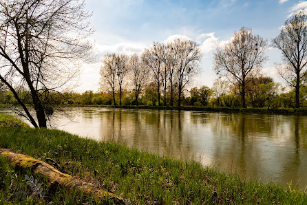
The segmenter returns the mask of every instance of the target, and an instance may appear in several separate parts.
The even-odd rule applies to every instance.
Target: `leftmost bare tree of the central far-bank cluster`
[[[115,91],[117,87],[115,58],[116,54],[105,55],[105,58],[103,58],[103,65],[100,67],[100,90],[105,89],[105,84],[107,84],[107,87],[111,88],[114,106],[116,105]]]

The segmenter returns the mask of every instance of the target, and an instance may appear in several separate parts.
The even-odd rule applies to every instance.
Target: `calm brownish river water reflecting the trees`
[[[2,113],[6,111],[2,111]],[[67,108],[58,129],[96,140],[197,160],[226,173],[307,186],[307,116]]]

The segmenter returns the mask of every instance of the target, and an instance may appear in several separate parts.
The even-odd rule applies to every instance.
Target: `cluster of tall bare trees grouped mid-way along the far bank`
[[[107,54],[100,69],[100,91],[112,96],[113,105],[123,105],[126,89],[134,94],[135,105],[173,106],[176,103],[180,107],[186,103],[182,100],[188,83],[199,73],[201,58],[197,43],[180,39],[154,43],[141,56]]]

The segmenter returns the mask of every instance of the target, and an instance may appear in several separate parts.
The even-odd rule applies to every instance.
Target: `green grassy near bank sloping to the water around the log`
[[[198,162],[160,158],[59,130],[2,127],[0,147],[40,160],[51,158],[61,166],[61,171],[94,182],[131,204],[307,204],[307,195],[301,191],[242,180]],[[45,196],[32,197],[25,174],[31,175],[30,171],[17,171],[0,159],[2,204],[100,203],[81,193],[71,195],[61,188],[54,190],[45,186],[47,183],[41,178],[38,180]]]

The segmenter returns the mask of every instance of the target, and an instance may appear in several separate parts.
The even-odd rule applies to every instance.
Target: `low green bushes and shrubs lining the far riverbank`
[[[113,96],[110,92],[85,91],[83,94],[76,92],[56,93],[51,92],[49,101],[51,105],[147,105],[158,106],[158,91],[154,82],[146,83],[142,87],[138,102],[136,101],[134,89],[122,89],[121,96],[116,90]],[[214,81],[212,87],[203,85],[193,87],[185,92],[181,98],[182,106],[195,107],[241,107],[242,98],[239,87],[232,85],[228,80],[218,78]],[[26,95],[26,94],[24,94]],[[173,89],[173,95],[178,95],[178,89]],[[170,91],[167,91],[166,98],[161,95],[160,105],[171,105]],[[299,105],[302,108],[307,107],[307,88],[300,90]],[[121,100],[120,100],[121,98]],[[30,98],[29,98],[30,100]],[[45,99],[47,100],[47,99]],[[166,100],[166,101],[165,101]],[[13,94],[8,91],[0,91],[0,103],[18,105]],[[26,100],[25,100],[26,103]],[[174,105],[178,105],[178,98],[173,98]],[[259,76],[251,80],[246,87],[246,105],[247,107],[266,107],[266,108],[295,108],[295,89],[286,91],[279,83],[273,81],[271,77]]]

